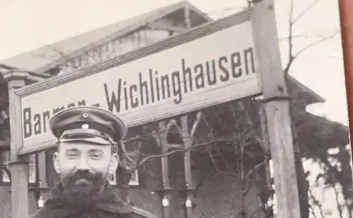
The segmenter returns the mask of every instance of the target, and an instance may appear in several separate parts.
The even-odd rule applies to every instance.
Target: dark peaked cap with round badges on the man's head
[[[124,122],[107,110],[78,106],[56,113],[49,120],[52,134],[60,142],[88,141],[101,145],[115,145],[124,139]]]

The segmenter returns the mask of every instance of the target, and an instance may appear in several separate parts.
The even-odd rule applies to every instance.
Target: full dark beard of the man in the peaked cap
[[[61,180],[65,200],[74,205],[90,205],[99,198],[106,183],[104,174],[88,171],[77,171]]]

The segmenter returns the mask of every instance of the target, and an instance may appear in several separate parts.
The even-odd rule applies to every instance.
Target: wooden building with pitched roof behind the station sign
[[[96,64],[109,64],[111,58],[183,34],[193,27],[210,22],[213,22],[213,20],[208,15],[188,1],[181,1],[119,23],[22,53],[8,60],[2,60],[0,62],[0,72],[8,70],[28,71],[30,72],[28,84],[31,84],[83,68],[90,68]],[[0,82],[0,96],[3,99],[0,109],[4,111],[4,113],[1,113],[1,120],[4,124],[2,124],[3,129],[1,129],[0,135],[0,152],[2,162],[6,164],[10,146],[10,134],[6,129],[8,95],[6,82],[4,82],[4,79],[1,79]],[[318,145],[323,146],[323,148],[331,148],[345,146],[349,143],[347,127],[306,112],[306,105],[323,102],[323,98],[293,77],[287,77],[287,85],[289,93],[294,99],[298,100],[291,104],[294,127],[299,129],[294,136],[296,143],[307,146],[309,149],[314,149]],[[253,137],[253,135],[261,134],[262,124],[261,119],[259,119],[261,114],[258,113],[258,107],[254,101],[234,101],[225,105],[233,105],[238,114],[244,113],[244,107],[249,108],[253,117],[244,120],[244,117],[240,116],[239,122],[253,122],[253,129],[257,129],[257,132],[249,132],[249,130],[239,132],[244,136],[249,135],[249,140],[246,141],[246,145],[249,146],[246,148],[245,146],[237,147],[241,148],[240,151],[239,149],[232,149],[234,144],[229,144],[229,141],[219,140],[217,143],[207,143],[200,150],[192,151],[190,167],[194,184],[192,190],[193,216],[236,217],[236,215],[244,212],[248,217],[250,214],[253,217],[263,217],[263,207],[265,207],[269,196],[266,191],[270,190],[268,164],[256,168],[256,173],[253,175],[249,174],[254,181],[253,183],[246,181],[246,185],[244,184],[244,172],[251,172],[252,169],[255,169],[253,167],[265,160],[263,150],[267,148]],[[217,114],[218,120],[212,118],[215,114]],[[235,131],[232,127],[234,120],[230,118],[232,114],[226,106],[217,105],[206,108],[203,115],[208,121],[204,120],[198,124],[194,143],[198,143],[198,145],[205,143],[205,141],[207,142],[206,138],[208,141],[212,141],[208,138],[210,132],[204,130],[209,129],[210,126],[211,129],[216,129],[213,133],[215,139],[224,138],[223,136],[229,134],[229,132],[225,132],[225,129],[232,130],[232,133]],[[188,115],[189,126],[192,126],[196,117],[196,113]],[[178,123],[177,126],[180,126],[181,117],[172,118],[175,118]],[[153,123],[144,127],[134,127],[130,129],[128,137],[133,139],[136,135],[145,135],[145,131],[148,131],[146,129],[153,129],[157,126],[157,123]],[[305,129],[300,127],[305,127]],[[323,128],[325,129],[324,134],[313,135],[313,132],[322,132]],[[151,132],[148,133],[148,136],[126,143],[128,150],[133,153],[133,150],[137,149],[139,153],[144,155],[141,155],[143,158],[148,155],[160,154],[163,145],[156,141],[155,135]],[[177,127],[169,129],[169,134],[165,137],[166,143],[164,143],[164,146],[168,146],[168,150],[177,149],[179,148],[178,145],[183,143]],[[245,143],[245,141],[241,142]],[[140,146],[138,146],[139,143]],[[35,195],[35,190],[37,190],[35,187],[50,187],[59,180],[52,167],[53,152],[54,148],[32,155],[29,184],[32,187],[32,189],[30,188],[32,191],[29,193],[30,212],[37,209],[36,198],[38,198],[38,195]],[[169,191],[162,188],[161,181],[164,175],[161,158],[151,158],[133,174],[128,187],[128,196],[134,205],[158,214],[160,217],[162,217],[164,208],[162,198],[168,196],[170,198],[168,199],[169,214],[173,214],[173,217],[184,217],[184,209],[186,209],[184,165],[186,163],[183,153],[169,155],[167,162],[168,179],[171,187]],[[3,166],[0,174],[0,218],[7,218],[11,216],[11,186],[9,186],[10,179],[6,173],[6,165]],[[301,176],[304,177],[304,174]],[[259,184],[259,181],[262,181],[262,184]],[[114,184],[114,179],[112,183]],[[244,195],[245,192],[246,195]],[[42,194],[44,196],[45,192],[43,191]]]

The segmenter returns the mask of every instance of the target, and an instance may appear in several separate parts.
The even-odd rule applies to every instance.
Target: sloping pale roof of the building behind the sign
[[[180,1],[176,4],[157,8],[154,11],[143,13],[141,15],[134,16],[133,18],[119,21],[118,23],[100,27],[83,34],[58,41],[54,44],[42,46],[39,49],[21,53],[18,56],[13,56],[12,58],[8,58],[6,60],[1,60],[0,65],[6,66],[7,68],[35,72],[38,77],[42,75],[43,78],[47,78],[47,75],[44,75],[44,72],[54,68],[56,65],[59,65],[63,60],[68,58],[68,56],[78,56],[87,49],[105,44],[116,37],[127,34],[133,30],[137,30],[138,28],[143,27],[154,20],[186,7],[196,12],[196,14],[200,15],[206,21],[213,21],[212,18],[208,17],[208,15],[196,8],[196,6],[193,6],[189,1]],[[288,75],[287,79],[289,82],[292,82],[298,86],[304,93],[309,94],[309,96],[314,99],[311,103],[325,102],[325,99],[318,96],[318,94],[306,87],[304,84],[301,84],[301,82],[297,81],[297,79],[294,79],[290,75]]]

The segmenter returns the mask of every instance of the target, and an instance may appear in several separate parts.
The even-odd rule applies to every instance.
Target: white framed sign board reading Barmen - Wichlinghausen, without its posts
[[[48,121],[59,110],[95,105],[128,127],[261,94],[250,13],[198,27],[88,69],[19,89],[23,148],[56,139]]]

